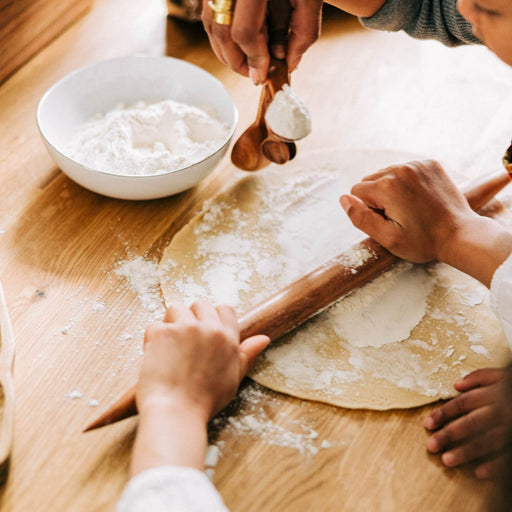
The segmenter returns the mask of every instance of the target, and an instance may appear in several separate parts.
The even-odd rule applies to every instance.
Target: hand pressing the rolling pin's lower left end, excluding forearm
[[[230,402],[269,341],[254,336],[240,343],[237,318],[229,306],[214,307],[206,300],[190,308],[171,306],[163,322],[146,329],[139,410],[155,401],[173,401],[208,421]]]

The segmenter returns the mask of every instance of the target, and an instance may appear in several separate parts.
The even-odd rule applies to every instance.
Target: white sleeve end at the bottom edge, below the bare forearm
[[[228,512],[220,494],[201,471],[161,466],[133,477],[116,512]]]

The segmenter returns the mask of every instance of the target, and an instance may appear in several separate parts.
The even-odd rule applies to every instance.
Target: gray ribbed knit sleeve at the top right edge
[[[387,0],[370,18],[359,18],[370,29],[404,30],[417,39],[437,39],[446,46],[481,44],[457,11],[457,0]]]

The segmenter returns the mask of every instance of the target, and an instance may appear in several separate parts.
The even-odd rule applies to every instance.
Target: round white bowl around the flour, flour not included
[[[200,162],[142,176],[91,169],[66,155],[79,126],[95,114],[120,103],[166,99],[213,111],[229,127],[225,140]],[[233,99],[219,80],[193,64],[170,57],[122,57],[80,68],[54,84],[37,109],[41,137],[62,171],[93,192],[119,199],[156,199],[196,185],[226,153],[237,120]]]

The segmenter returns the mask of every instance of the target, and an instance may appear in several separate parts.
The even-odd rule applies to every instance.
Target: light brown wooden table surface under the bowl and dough
[[[17,340],[15,444],[2,511],[113,509],[137,420],[81,430],[135,381],[152,317],[114,270],[136,256],[157,261],[233,173],[226,158],[194,189],[156,201],[91,193],[59,171],[39,139],[42,94],[96,60],[166,54],[225,84],[239,108],[238,133],[256,112],[258,88],[217,61],[199,25],[165,14],[163,1],[96,0],[0,86],[0,279]],[[313,117],[298,151],[406,150],[476,176],[499,167],[507,146],[511,75],[485,48],[369,32],[328,9],[321,39],[293,75]],[[444,469],[426,454],[422,420],[431,406],[353,411],[247,393],[232,419],[252,414],[269,429],[237,432],[228,421],[212,430],[221,447],[213,479],[233,511],[473,511],[490,490],[468,469]]]

